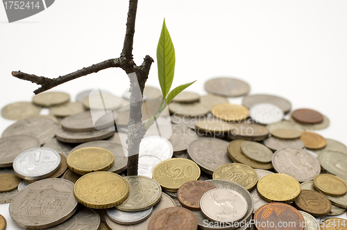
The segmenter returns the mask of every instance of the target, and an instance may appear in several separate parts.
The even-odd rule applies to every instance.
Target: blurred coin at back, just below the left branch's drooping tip
[[[67,103],[69,100],[69,94],[62,92],[44,92],[33,96],[33,103],[42,107],[60,105]]]

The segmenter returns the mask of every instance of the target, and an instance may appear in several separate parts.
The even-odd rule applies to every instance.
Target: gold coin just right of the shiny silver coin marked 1
[[[67,166],[79,175],[88,172],[105,171],[113,166],[112,152],[104,148],[87,147],[71,152],[67,157]]]

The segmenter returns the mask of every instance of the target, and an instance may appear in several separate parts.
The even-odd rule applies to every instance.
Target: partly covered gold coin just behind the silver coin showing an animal
[[[257,172],[243,163],[227,163],[214,170],[213,179],[224,179],[244,186],[251,191],[257,184]]]

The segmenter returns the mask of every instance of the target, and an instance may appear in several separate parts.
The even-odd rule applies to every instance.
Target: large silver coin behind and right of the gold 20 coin
[[[188,154],[203,172],[212,175],[219,166],[232,163],[228,157],[228,144],[228,141],[213,138],[197,139],[190,143]]]

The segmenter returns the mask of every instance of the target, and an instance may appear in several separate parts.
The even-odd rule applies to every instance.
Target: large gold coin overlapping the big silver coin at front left
[[[78,179],[74,186],[78,202],[92,209],[117,206],[128,194],[128,182],[114,172],[90,172]]]

